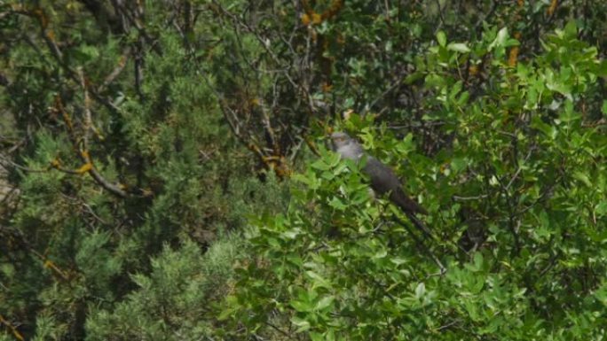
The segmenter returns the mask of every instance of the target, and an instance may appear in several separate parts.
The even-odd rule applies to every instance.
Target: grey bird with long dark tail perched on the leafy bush
[[[363,150],[362,145],[355,139],[343,132],[335,132],[331,134],[331,147],[343,159],[359,162],[365,156],[367,163],[362,171],[371,180],[371,188],[379,196],[388,193],[390,201],[398,205],[410,219],[414,218],[415,213],[428,214],[421,205],[405,194],[402,183],[392,169],[373,156],[368,155]]]

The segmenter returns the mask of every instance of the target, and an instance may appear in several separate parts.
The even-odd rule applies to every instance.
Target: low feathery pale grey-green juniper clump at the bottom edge
[[[152,260],[150,275],[133,275],[138,289],[111,311],[91,307],[87,340],[195,340],[213,335],[213,321],[205,319],[213,296],[228,291],[233,261],[240,255],[240,238],[230,236],[213,244],[204,255],[197,244],[185,242],[177,250],[165,247]]]

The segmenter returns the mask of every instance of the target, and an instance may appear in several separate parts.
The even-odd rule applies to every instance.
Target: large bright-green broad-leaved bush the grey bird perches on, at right
[[[420,244],[396,208],[369,199],[359,166],[321,151],[288,213],[251,231],[258,258],[238,269],[223,317],[262,338],[602,339],[607,138],[587,98],[607,63],[577,35],[570,23],[508,66],[506,29],[471,45],[439,31],[417,70],[437,94],[423,120],[443,123],[452,148],[430,159],[412,135],[343,125],[406,178],[433,238]],[[494,79],[473,96],[451,70],[480,58]],[[472,226],[485,237],[469,250]]]

